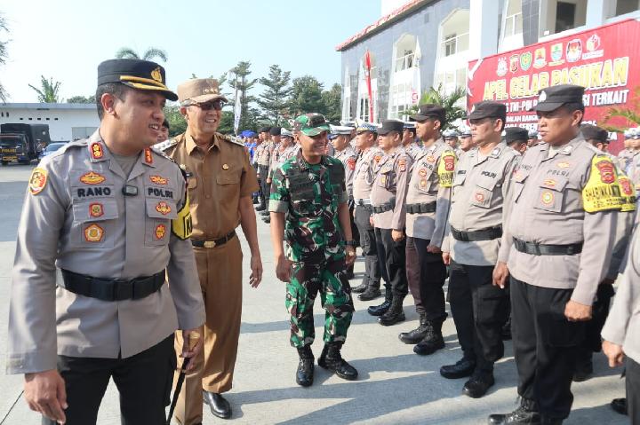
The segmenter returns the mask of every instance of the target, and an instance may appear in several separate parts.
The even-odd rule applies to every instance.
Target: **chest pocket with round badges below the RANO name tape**
[[[75,248],[112,248],[118,218],[115,199],[74,202],[71,245]]]

